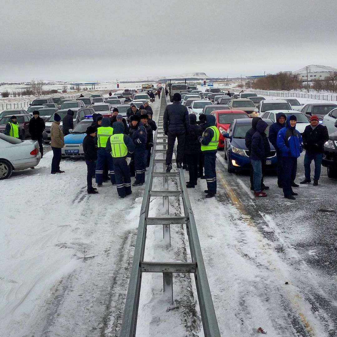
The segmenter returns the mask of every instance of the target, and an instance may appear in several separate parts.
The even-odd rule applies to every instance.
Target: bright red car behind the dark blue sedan
[[[229,125],[231,125],[235,119],[250,118],[248,114],[242,110],[215,110],[211,115],[215,116],[215,125],[220,132],[218,150],[223,150],[225,146],[225,139],[222,136],[222,132],[227,132]]]

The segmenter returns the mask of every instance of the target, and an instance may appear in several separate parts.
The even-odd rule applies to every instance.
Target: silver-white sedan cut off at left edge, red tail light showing
[[[37,141],[22,141],[0,133],[0,180],[9,178],[13,171],[35,167],[40,160]]]

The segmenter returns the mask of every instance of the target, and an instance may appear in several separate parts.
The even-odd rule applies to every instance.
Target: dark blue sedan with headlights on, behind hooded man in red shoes
[[[270,119],[263,120],[268,124],[266,129],[268,136],[269,126],[273,124],[273,121]],[[252,119],[235,119],[229,126],[228,132],[223,134],[226,139],[224,152],[225,159],[228,161],[228,172],[250,169],[248,149],[245,145],[245,135],[251,127]],[[266,169],[276,170],[276,151],[271,144],[270,150],[270,156],[266,159]]]

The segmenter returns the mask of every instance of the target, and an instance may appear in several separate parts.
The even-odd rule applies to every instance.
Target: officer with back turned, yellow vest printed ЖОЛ
[[[130,154],[134,151],[134,144],[131,138],[124,134],[124,128],[123,122],[115,122],[113,135],[109,137],[105,147],[105,151],[113,159],[117,193],[121,198],[132,193],[128,165],[131,161]]]

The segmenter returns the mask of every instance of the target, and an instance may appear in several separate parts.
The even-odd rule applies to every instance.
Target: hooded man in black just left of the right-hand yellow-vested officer
[[[190,120],[190,132],[185,138],[184,150],[189,173],[189,181],[186,183],[186,187],[194,188],[198,179],[198,162],[201,152],[198,137],[203,134],[203,131],[201,127],[196,124],[196,116],[194,114],[189,114],[188,117]]]

